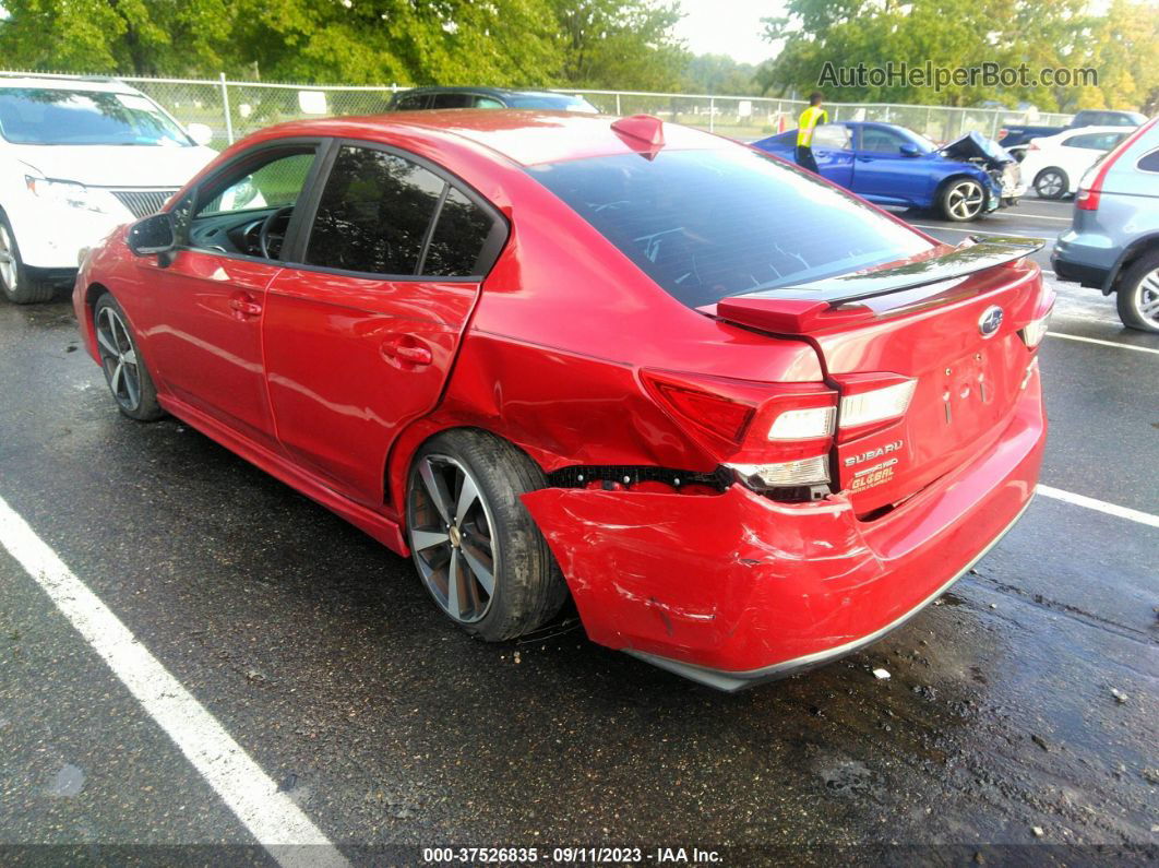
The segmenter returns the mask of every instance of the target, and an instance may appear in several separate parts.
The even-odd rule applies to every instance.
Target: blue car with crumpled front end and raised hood
[[[794,162],[796,130],[753,147]],[[935,209],[947,220],[974,220],[1013,205],[1026,192],[1018,162],[998,143],[971,132],[938,147],[896,124],[823,124],[812,153],[822,176],[879,205]]]

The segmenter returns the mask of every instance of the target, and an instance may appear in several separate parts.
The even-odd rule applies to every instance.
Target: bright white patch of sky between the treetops
[[[760,38],[760,20],[783,15],[778,0],[680,0],[685,16],[676,35],[694,54],[729,54],[746,64],[767,60],[774,51]]]

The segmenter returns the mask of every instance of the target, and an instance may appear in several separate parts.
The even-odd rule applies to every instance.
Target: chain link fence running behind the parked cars
[[[35,73],[0,72],[0,75]],[[43,75],[42,75],[43,78]],[[57,79],[95,76],[52,75]],[[212,146],[223,148],[255,130],[283,121],[333,115],[374,115],[386,111],[392,94],[404,86],[380,87],[286,85],[218,79],[152,79],[121,76],[163,105],[181,123],[205,124]],[[806,107],[801,100],[708,94],[657,94],[635,90],[567,90],[586,99],[608,115],[656,115],[673,123],[699,126],[751,140],[796,126]],[[1007,124],[1064,126],[1071,115],[1011,109],[957,109],[945,105],[888,103],[826,103],[832,121],[884,121],[901,124],[943,143],[977,131],[997,138]]]

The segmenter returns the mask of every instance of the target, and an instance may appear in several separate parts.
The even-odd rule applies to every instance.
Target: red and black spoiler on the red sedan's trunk
[[[843,305],[955,280],[1005,265],[1041,250],[1045,243],[1045,239],[1041,238],[971,235],[940,256],[724,298],[716,302],[716,316],[781,334],[802,334],[839,326],[872,315],[866,307],[840,309]]]

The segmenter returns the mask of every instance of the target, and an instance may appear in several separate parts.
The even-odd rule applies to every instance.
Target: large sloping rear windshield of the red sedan
[[[920,235],[748,148],[661,151],[529,172],[690,307],[928,250]]]

